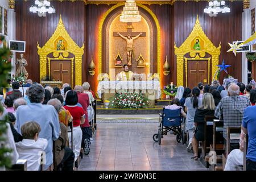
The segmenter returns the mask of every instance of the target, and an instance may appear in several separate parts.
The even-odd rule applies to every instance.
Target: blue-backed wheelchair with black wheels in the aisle
[[[173,131],[176,135],[176,141],[180,143],[181,139],[183,140],[181,123],[183,123],[181,109],[170,110],[163,108],[163,114],[159,114],[158,133],[153,135],[153,140],[161,144],[163,135],[166,135],[169,131]]]

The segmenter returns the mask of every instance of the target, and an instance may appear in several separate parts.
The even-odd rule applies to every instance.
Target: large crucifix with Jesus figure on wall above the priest
[[[146,32],[133,32],[133,25],[129,22],[127,23],[127,32],[113,32],[113,36],[121,36],[122,39],[126,40],[127,47],[127,58],[128,65],[131,65],[133,59],[133,40],[138,39],[139,36],[146,36]]]

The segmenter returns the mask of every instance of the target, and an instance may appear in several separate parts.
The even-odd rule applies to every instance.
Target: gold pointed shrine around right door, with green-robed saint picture
[[[179,47],[175,48],[175,55],[177,56],[177,86],[188,85],[188,60],[197,60],[197,61],[207,61],[208,63],[208,83],[210,82],[210,75],[213,77],[214,73],[217,71],[218,67],[218,57],[220,55],[221,43],[217,47],[208,39],[204,34],[203,28],[200,25],[199,18],[197,15],[195,26],[191,34],[185,40],[185,42]],[[190,57],[187,57],[189,53]],[[206,57],[206,53],[209,54]],[[185,62],[185,77],[184,77],[184,62]],[[211,71],[211,72],[210,72]],[[184,84],[185,80],[185,84]]]

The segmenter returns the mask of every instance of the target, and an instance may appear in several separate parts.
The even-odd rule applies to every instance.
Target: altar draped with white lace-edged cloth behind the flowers
[[[155,100],[161,98],[159,81],[100,81],[97,93],[101,100],[110,102],[116,94],[142,93],[148,100],[148,108],[154,107]]]

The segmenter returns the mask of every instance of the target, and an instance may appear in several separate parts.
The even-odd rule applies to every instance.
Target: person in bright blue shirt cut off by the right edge
[[[249,143],[246,154],[246,170],[256,171],[256,106],[245,109],[242,130],[248,134]]]

